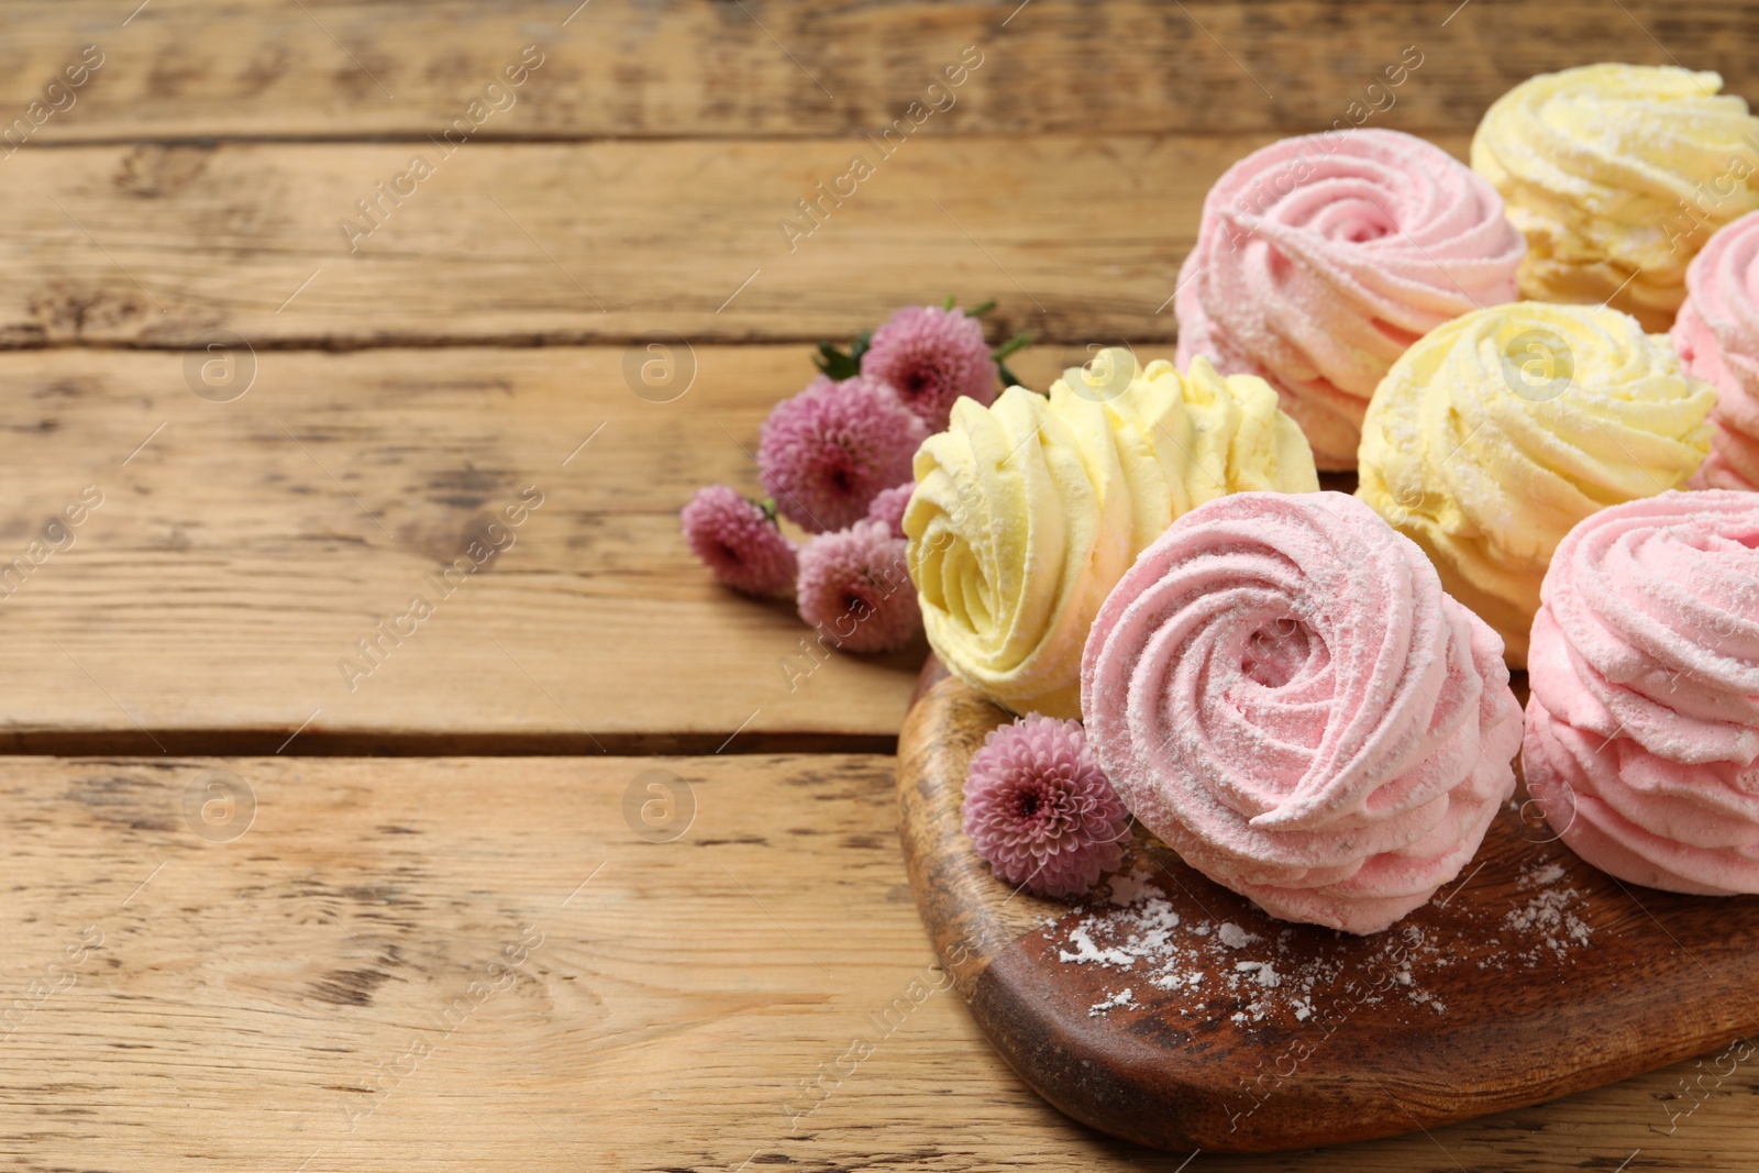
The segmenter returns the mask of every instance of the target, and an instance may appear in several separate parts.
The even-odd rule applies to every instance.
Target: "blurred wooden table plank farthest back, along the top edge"
[[[929,134],[1298,134],[1349,118],[1351,102],[1388,100],[1374,114],[1383,125],[1458,132],[1514,83],[1595,60],[1719,69],[1759,93],[1759,14],[1740,0],[1689,11],[1664,0],[1624,11],[1588,0],[135,5],[9,5],[5,118],[40,100],[86,44],[104,65],[42,121],[39,142],[420,139],[464,116],[533,44],[544,63],[505,109],[477,120],[480,137],[878,130],[967,46],[982,65]],[[1421,62],[1418,72],[1390,97],[1369,91],[1402,58]]]

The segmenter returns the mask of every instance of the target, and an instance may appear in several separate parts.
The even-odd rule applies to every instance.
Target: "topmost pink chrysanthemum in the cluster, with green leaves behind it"
[[[874,331],[862,355],[862,375],[895,390],[929,431],[946,429],[959,396],[989,406],[996,373],[983,324],[938,306],[904,306]]]

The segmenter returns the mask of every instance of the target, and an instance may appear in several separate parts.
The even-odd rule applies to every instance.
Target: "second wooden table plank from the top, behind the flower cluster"
[[[846,338],[946,294],[997,297],[1003,331],[1157,343],[1205,192],[1263,141],[21,151],[0,167],[0,346],[186,346],[208,329],[329,348]],[[862,151],[876,171],[855,195],[785,234]],[[345,236],[413,155],[434,174]]]

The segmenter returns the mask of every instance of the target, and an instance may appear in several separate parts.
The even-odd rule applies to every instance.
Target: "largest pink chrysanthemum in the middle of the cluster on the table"
[[[899,397],[857,375],[818,376],[770,412],[758,440],[763,487],[790,521],[825,533],[867,517],[881,489],[909,480],[929,429]]]

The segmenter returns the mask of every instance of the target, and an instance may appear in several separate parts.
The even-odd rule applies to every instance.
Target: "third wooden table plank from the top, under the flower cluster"
[[[718,587],[679,535],[702,484],[762,496],[748,452],[807,350],[698,346],[670,403],[626,353],[239,352],[230,403],[174,352],[0,357],[0,746],[890,747],[925,645],[814,668],[792,603]],[[1043,382],[1080,355],[1020,357]],[[413,596],[434,614],[399,621]]]

